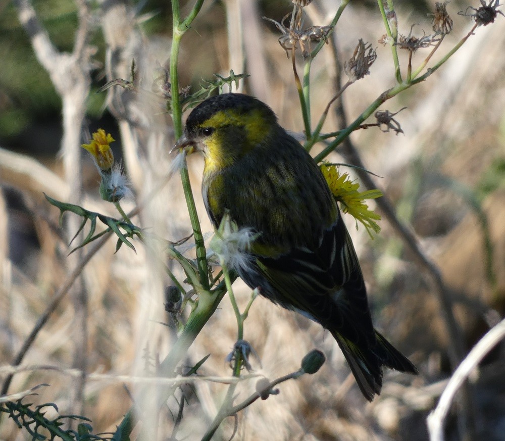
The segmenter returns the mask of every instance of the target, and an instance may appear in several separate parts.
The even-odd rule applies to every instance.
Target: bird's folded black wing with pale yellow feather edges
[[[273,290],[267,297],[354,344],[376,344],[365,282],[340,213],[316,250],[294,248],[276,258],[256,255],[256,263]]]

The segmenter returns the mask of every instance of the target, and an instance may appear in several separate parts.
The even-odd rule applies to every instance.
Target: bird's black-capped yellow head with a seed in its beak
[[[200,152],[208,171],[223,169],[253,149],[266,147],[277,125],[273,111],[240,93],[213,96],[193,109],[175,149]]]

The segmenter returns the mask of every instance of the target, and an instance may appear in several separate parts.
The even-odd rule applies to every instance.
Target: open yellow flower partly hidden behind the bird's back
[[[342,211],[349,213],[365,225],[368,234],[373,238],[370,230],[376,233],[380,231],[379,225],[375,222],[380,220],[380,215],[370,210],[364,200],[380,198],[382,192],[380,190],[359,191],[360,184],[352,182],[347,173],[340,174],[334,165],[323,164],[321,171],[335,200],[340,203]],[[356,223],[356,228],[358,228],[358,223]]]

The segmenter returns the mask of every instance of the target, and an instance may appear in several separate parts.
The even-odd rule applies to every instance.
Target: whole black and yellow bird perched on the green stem
[[[201,192],[217,229],[228,214],[254,231],[234,268],[274,304],[328,329],[363,396],[383,368],[417,374],[372,323],[360,263],[335,198],[311,155],[253,96],[211,96],[189,114],[174,149],[204,157]]]

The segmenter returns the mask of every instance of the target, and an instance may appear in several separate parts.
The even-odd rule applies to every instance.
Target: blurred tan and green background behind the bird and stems
[[[133,200],[124,204],[125,211],[165,179],[171,164],[168,152],[174,143],[165,106],[170,82],[166,78],[172,35],[170,2],[110,0],[88,5],[70,0],[34,1],[35,13],[58,54],[52,58],[46,54],[49,64],[45,67],[20,24],[21,3],[0,1],[3,366],[13,363],[25,338],[86,253],[85,248],[81,254],[68,256],[72,249],[68,243],[79,223],[66,215],[60,227],[58,210],[49,206],[43,192],[117,216],[111,204],[99,199],[98,174],[80,143],[87,143],[90,133],[99,127],[116,139],[114,154],[122,160],[134,192]],[[193,2],[181,1],[182,16],[192,6]],[[397,1],[395,6],[400,34],[408,35],[412,30],[413,35],[422,37],[432,33],[427,16],[433,12],[432,3]],[[471,17],[457,13],[475,14],[467,7],[481,6],[470,0],[447,5],[453,30],[435,53],[435,62],[474,24]],[[305,26],[328,24],[336,8],[333,1],[314,0],[305,9]],[[237,74],[245,72],[250,76],[241,82],[239,91],[265,101],[286,129],[302,135],[291,60],[277,41],[278,29],[262,19],[281,21],[291,10],[288,0],[204,2],[183,38],[180,88],[197,90],[206,80],[214,80],[213,74],[226,77],[231,69]],[[390,47],[378,43],[384,33],[377,4],[372,1],[350,2],[335,29],[340,64],[350,58],[360,38],[370,42],[378,56],[371,74],[343,94],[348,122],[395,84]],[[367,281],[376,327],[416,364],[420,375],[387,371],[381,396],[368,403],[327,332],[258,298],[245,323],[245,338],[261,360],[261,366],[255,366],[258,372],[270,379],[292,372],[314,347],[324,351],[328,360],[316,375],[282,383],[280,395],[243,411],[234,439],[428,439],[426,416],[451,375],[451,351],[456,345],[466,354],[505,313],[503,47],[505,18],[497,15],[495,23],[477,28],[427,81],[381,107],[390,112],[407,107],[395,116],[404,134],[372,127],[350,137],[366,168],[377,175],[373,179],[392,201],[397,218],[415,234],[424,256],[438,269],[456,318],[459,341],[448,336],[433,274],[418,263],[397,230],[383,219],[382,231],[371,240],[363,227],[356,228],[354,219],[345,219]],[[414,54],[414,68],[429,51],[420,49]],[[405,75],[408,54],[400,51],[399,55]],[[134,82],[143,93],[118,86],[96,93],[110,80],[129,80],[132,59],[136,65]],[[51,65],[51,60],[56,63]],[[72,65],[75,60],[77,70]],[[300,57],[300,75],[302,64]],[[333,97],[331,91],[338,89],[338,73],[332,46],[325,46],[311,71],[313,124]],[[340,129],[340,121],[341,115],[332,113],[323,131]],[[367,122],[375,121],[371,118]],[[329,159],[347,162],[338,150]],[[212,227],[199,192],[203,161],[191,157],[188,167],[202,229],[210,234]],[[352,169],[349,172],[352,175]],[[179,181],[176,175],[163,186],[134,222],[169,240],[187,236],[191,228]],[[113,379],[84,380],[65,369],[112,377],[145,375],[167,354],[176,338],[173,327],[166,326],[173,320],[164,308],[164,291],[170,281],[160,271],[152,250],[145,250],[140,243],[135,247],[136,253],[126,247],[114,253],[111,239],[93,256],[82,277],[49,315],[22,362],[23,366],[58,366],[62,371],[18,373],[9,393],[48,383],[50,386],[37,390],[35,403],[54,402],[61,413],[85,415],[92,420],[95,432],[115,430],[132,405],[136,384],[126,381],[125,388],[123,382]],[[193,250],[185,252],[190,255]],[[183,278],[177,265],[173,264],[173,270]],[[249,290],[239,281],[236,286],[243,308]],[[185,315],[187,311],[179,319]],[[228,376],[231,372],[225,358],[235,339],[236,322],[225,298],[184,364],[192,366],[211,354],[199,372]],[[4,372],[2,381],[5,377]],[[456,400],[447,420],[446,439],[463,439],[462,433],[471,434],[467,439],[505,439],[504,378],[500,345],[472,376],[470,396]],[[254,390],[254,381],[246,383],[240,397]],[[200,439],[225,392],[224,385],[215,383],[187,387],[188,406],[176,439]],[[169,407],[177,412],[175,400]],[[169,438],[172,426],[167,412],[160,418],[160,439]],[[226,420],[215,439],[229,439],[233,426],[232,418]],[[2,417],[0,438],[29,436]]]

